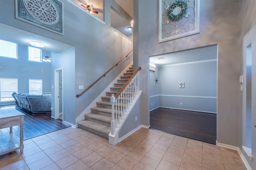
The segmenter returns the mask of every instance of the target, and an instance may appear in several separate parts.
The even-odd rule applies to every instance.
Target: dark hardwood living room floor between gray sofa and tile
[[[61,119],[51,118],[51,113],[30,113],[16,105],[0,106],[0,113],[1,109],[8,109],[10,112],[20,111],[25,114],[23,127],[24,140],[70,127],[70,125],[63,123]],[[0,137],[9,133],[10,128],[0,129]],[[20,126],[13,127],[13,135],[18,138],[20,137]]]

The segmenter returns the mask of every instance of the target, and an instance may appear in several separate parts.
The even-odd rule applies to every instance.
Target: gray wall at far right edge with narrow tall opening
[[[240,29],[241,29],[241,34],[240,37],[242,39],[242,42],[240,43],[241,45],[241,57],[240,57],[240,75],[244,74],[244,70],[246,69],[246,47],[252,43],[252,103],[256,102],[256,70],[254,69],[256,66],[256,20],[253,16],[256,16],[256,1],[255,0],[244,0],[241,1],[241,7],[240,7],[240,14],[241,14],[241,23],[240,23]],[[245,76],[245,75],[244,75]],[[256,169],[256,162],[255,160],[250,160],[248,158],[246,152],[242,149],[242,145],[245,146],[245,138],[246,138],[246,95],[245,92],[240,92],[239,96],[240,100],[240,129],[239,129],[239,142],[240,142],[240,150],[244,154],[244,157],[246,158],[247,162],[249,163],[251,169]],[[244,103],[243,103],[244,102]],[[243,113],[243,114],[242,114]],[[252,104],[252,122],[256,122],[256,105]],[[256,131],[255,128],[253,127],[254,124],[252,124],[252,156],[255,158],[256,156]]]

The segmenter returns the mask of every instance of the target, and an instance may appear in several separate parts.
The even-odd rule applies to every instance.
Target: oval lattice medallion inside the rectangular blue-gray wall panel
[[[59,20],[59,14],[50,0],[23,0],[28,12],[38,21],[53,25]]]

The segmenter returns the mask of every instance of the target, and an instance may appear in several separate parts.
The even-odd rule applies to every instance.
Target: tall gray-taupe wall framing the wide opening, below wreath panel
[[[134,0],[134,67],[142,67],[143,77],[141,123],[150,125],[149,56],[217,44],[217,141],[238,146],[240,1],[200,0],[200,33],[163,43],[158,43],[157,6],[157,0]]]

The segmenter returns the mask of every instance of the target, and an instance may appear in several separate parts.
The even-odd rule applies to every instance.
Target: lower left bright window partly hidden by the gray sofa
[[[0,101],[14,100],[12,92],[18,93],[18,79],[17,78],[0,78]]]

